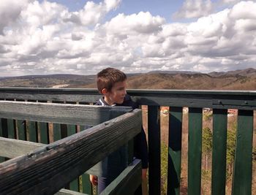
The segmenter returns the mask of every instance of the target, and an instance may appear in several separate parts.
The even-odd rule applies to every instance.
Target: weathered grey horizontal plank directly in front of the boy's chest
[[[131,110],[129,107],[0,101],[0,117],[2,118],[65,124],[89,124],[91,126],[103,123],[116,115],[122,115]]]

